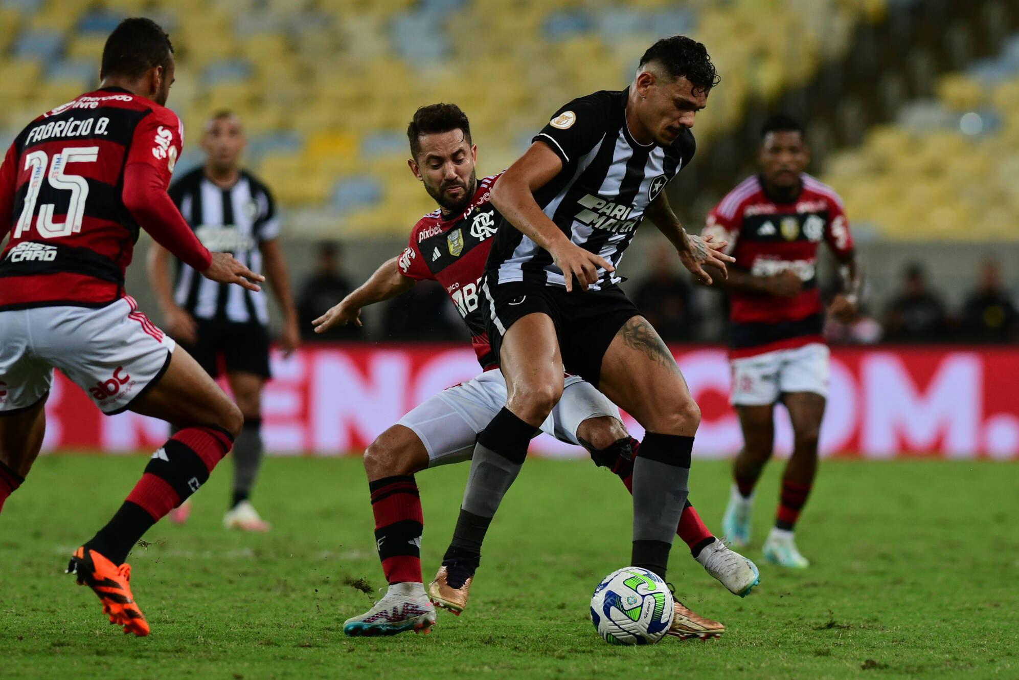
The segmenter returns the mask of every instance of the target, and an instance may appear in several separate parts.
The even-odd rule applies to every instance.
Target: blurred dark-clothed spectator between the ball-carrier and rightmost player
[[[690,285],[677,273],[678,261],[671,248],[656,249],[650,273],[634,294],[634,304],[666,342],[691,339],[699,320],[691,304]]]

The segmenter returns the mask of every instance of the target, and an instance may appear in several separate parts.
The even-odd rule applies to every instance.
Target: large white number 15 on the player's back
[[[24,156],[24,169],[31,170],[29,193],[24,197],[24,208],[17,219],[14,238],[32,230],[32,216],[36,212],[36,200],[43,188],[43,179],[49,180],[53,189],[70,191],[70,203],[63,224],[53,222],[53,211],[56,205],[45,203],[39,206],[39,219],[36,228],[44,239],[68,237],[82,230],[82,219],[85,217],[85,202],[89,198],[89,182],[85,177],[64,171],[68,163],[93,163],[99,159],[99,147],[68,147],[53,156],[52,162],[45,151],[33,151]],[[49,166],[49,174],[46,167]]]

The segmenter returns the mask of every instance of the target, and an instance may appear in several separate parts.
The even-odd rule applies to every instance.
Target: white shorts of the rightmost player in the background
[[[786,394],[809,391],[827,399],[828,348],[811,343],[733,359],[733,406],[766,406]]]

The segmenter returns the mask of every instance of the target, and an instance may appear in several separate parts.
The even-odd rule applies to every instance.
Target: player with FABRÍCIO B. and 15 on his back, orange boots
[[[208,278],[256,291],[265,280],[228,254],[210,253],[166,194],[183,138],[164,107],[173,71],[162,28],[124,19],[106,40],[100,89],[33,120],[0,165],[0,240],[10,233],[0,256],[0,510],[39,455],[54,368],[104,413],[129,409],[177,428],[67,566],[110,623],[136,635],[147,635],[149,624],[124,560],[205,483],[244,419],[124,293],[139,229]],[[89,489],[73,495],[94,500]]]

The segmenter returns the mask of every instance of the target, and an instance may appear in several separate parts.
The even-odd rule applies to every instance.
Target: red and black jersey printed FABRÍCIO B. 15
[[[169,109],[104,88],[33,120],[0,167],[0,309],[95,306],[123,297],[139,224],[124,169],[147,163],[169,184],[183,126]]]

